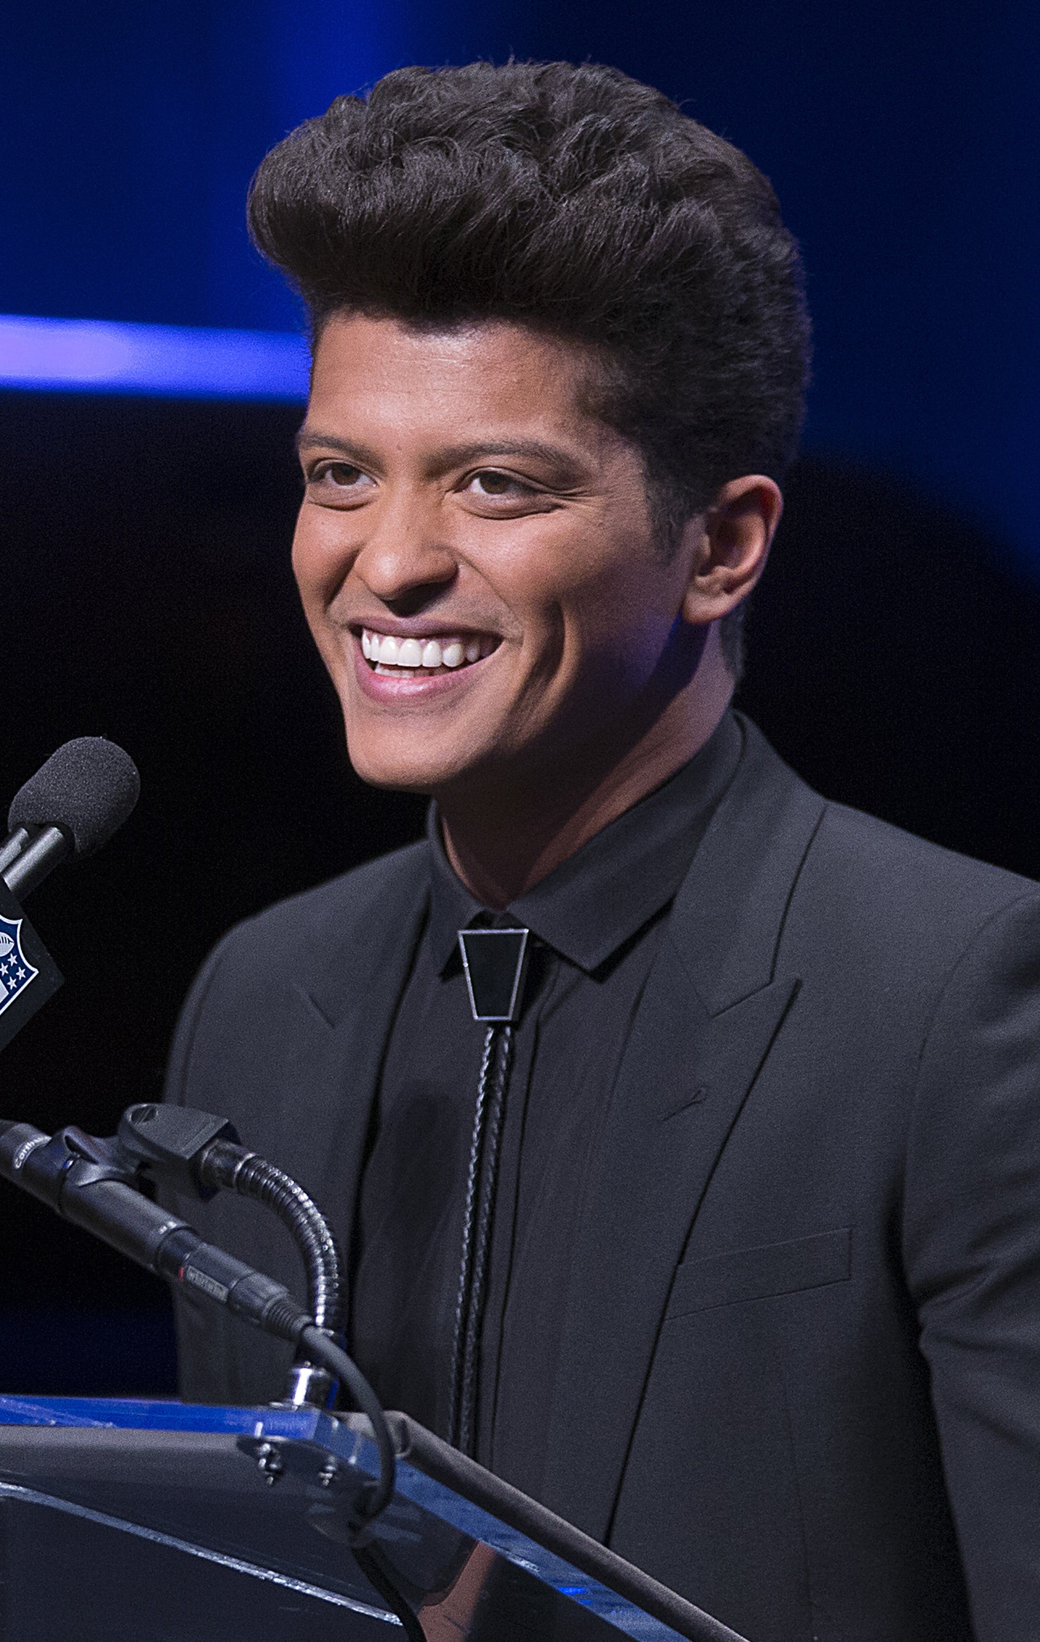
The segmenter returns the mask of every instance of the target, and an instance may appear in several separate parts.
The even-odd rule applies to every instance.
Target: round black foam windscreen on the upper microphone
[[[7,824],[59,826],[77,857],[92,855],[123,824],[141,780],[133,759],[104,736],[67,741],[13,798]]]

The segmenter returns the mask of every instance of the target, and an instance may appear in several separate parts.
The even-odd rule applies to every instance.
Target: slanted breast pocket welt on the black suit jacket
[[[851,1233],[820,1232],[790,1243],[738,1248],[708,1259],[687,1259],[675,1273],[667,1317],[685,1317],[710,1305],[764,1300],[772,1294],[797,1294],[825,1282],[844,1282],[851,1269]]]

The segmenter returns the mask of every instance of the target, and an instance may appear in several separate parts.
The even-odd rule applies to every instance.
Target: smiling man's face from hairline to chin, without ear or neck
[[[580,355],[522,327],[329,322],[292,563],[365,780],[565,780],[688,649],[688,555],[580,391]]]

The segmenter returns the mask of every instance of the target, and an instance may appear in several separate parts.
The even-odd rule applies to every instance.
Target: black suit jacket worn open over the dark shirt
[[[751,1642],[1035,1642],[1040,888],[744,736],[610,1094],[544,1502]],[[173,1051],[345,1243],[424,851],[233,929]],[[299,1291],[261,1210],[182,1207]],[[179,1327],[186,1397],[278,1394],[279,1346]]]

